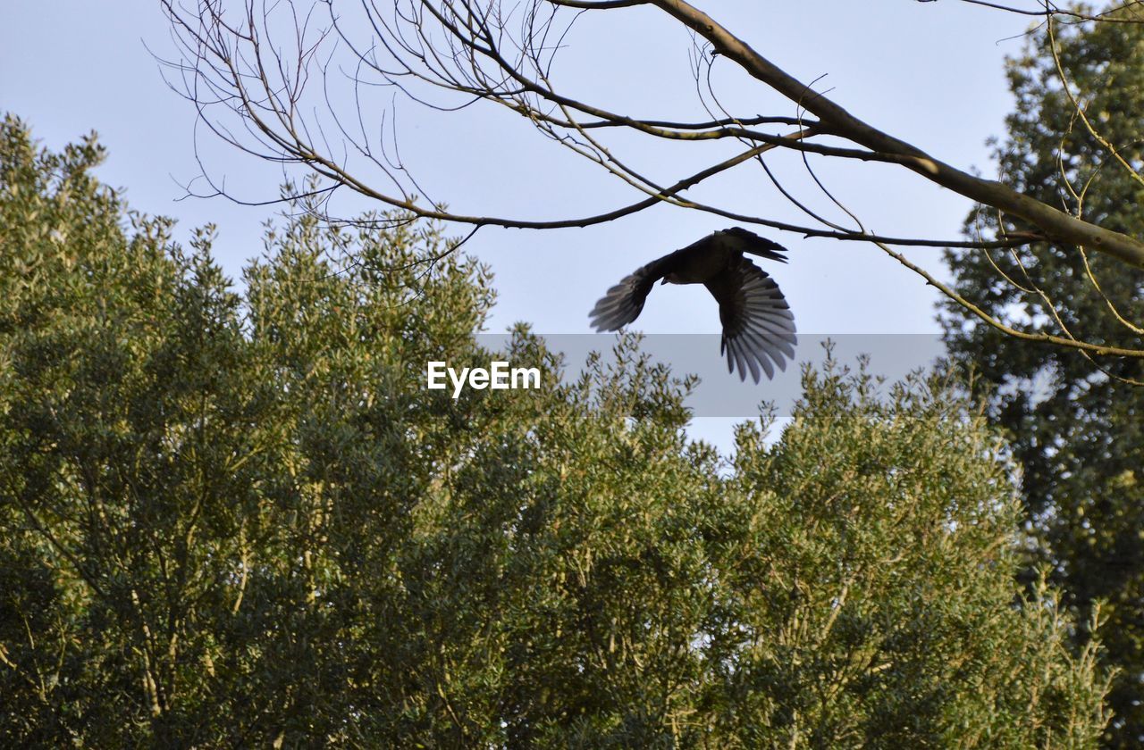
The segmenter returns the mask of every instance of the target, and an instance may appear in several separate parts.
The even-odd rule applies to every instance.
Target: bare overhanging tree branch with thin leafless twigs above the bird
[[[925,1],[925,0],[921,0]],[[1046,32],[1060,24],[1093,22],[1135,24],[1142,18],[1136,2],[1122,9],[1095,14],[1062,9],[1051,3],[1006,7],[975,5],[998,11],[1018,13],[1040,21]],[[930,271],[907,258],[895,246],[963,247],[976,250],[1023,247],[1054,241],[1080,255],[1102,255],[1129,277],[1144,268],[1144,241],[1099,216],[1062,210],[1056,197],[1036,198],[1018,184],[985,179],[943,162],[921,147],[859,120],[835,104],[815,81],[800,81],[748,40],[682,0],[398,0],[390,3],[260,3],[222,0],[183,7],[161,0],[181,56],[170,62],[172,81],[191,99],[200,121],[233,146],[275,163],[296,165],[321,177],[318,188],[328,197],[344,188],[371,200],[421,217],[485,225],[553,229],[585,226],[618,220],[660,202],[708,212],[740,223],[750,223],[804,236],[866,241],[921,274],[980,320],[1010,336],[1050,342],[1093,356],[1144,358],[1138,342],[1112,345],[1101,340],[1078,338],[1066,328],[1035,333],[1008,326],[988,316],[977,300],[950,288]],[[697,40],[691,50],[693,81],[681,81],[675,90],[694,88],[706,110],[700,120],[682,97],[664,102],[675,118],[641,115],[610,109],[590,94],[578,94],[556,64],[562,50],[580,39],[575,24],[583,14],[614,16],[666,14]],[[1036,32],[1031,32],[1036,33]],[[589,42],[590,43],[590,42]],[[723,62],[726,61],[726,62]],[[755,96],[778,94],[779,111],[758,114],[725,107],[713,81],[716,66],[732,65],[756,83]],[[571,149],[607,174],[634,189],[638,199],[589,216],[534,220],[517,216],[468,214],[445,208],[443,200],[423,196],[415,165],[400,158],[394,117],[387,121],[391,93],[434,109],[451,111],[470,105],[491,105],[517,122],[535,127],[556,144]],[[394,94],[396,96],[396,94]],[[753,107],[763,104],[752,103]],[[323,114],[323,111],[325,113]],[[1081,111],[1081,110],[1078,110]],[[883,118],[891,120],[892,117]],[[1104,125],[1085,119],[1094,133]],[[774,128],[785,127],[786,133]],[[675,177],[649,173],[625,155],[635,139],[675,146],[658,165],[694,163]],[[730,146],[732,147],[729,147]],[[772,151],[804,157],[812,185],[833,204],[841,218],[831,220],[809,206],[794,189],[779,182],[766,159]],[[714,154],[714,155],[712,155]],[[510,157],[509,157],[510,158]],[[877,162],[903,167],[923,179],[947,188],[995,210],[1011,221],[995,237],[970,237],[951,242],[940,238],[879,237],[866,231],[860,217],[839,204],[812,169],[811,161]],[[746,205],[710,205],[694,197],[697,186],[739,167],[756,165],[765,179],[810,222],[795,225],[760,214]],[[1121,166],[1135,169],[1130,160]],[[204,176],[214,192],[224,193],[221,181]],[[1137,175],[1138,176],[1138,175]],[[1054,184],[1056,181],[1054,179]],[[1062,190],[1064,186],[1060,186]],[[688,192],[692,191],[692,192]],[[420,194],[420,196],[419,196]],[[455,197],[450,197],[455,198]],[[455,200],[448,202],[455,204]],[[326,220],[347,221],[329,212]],[[1016,223],[1019,229],[1010,226]],[[1139,320],[1138,318],[1136,319]]]

